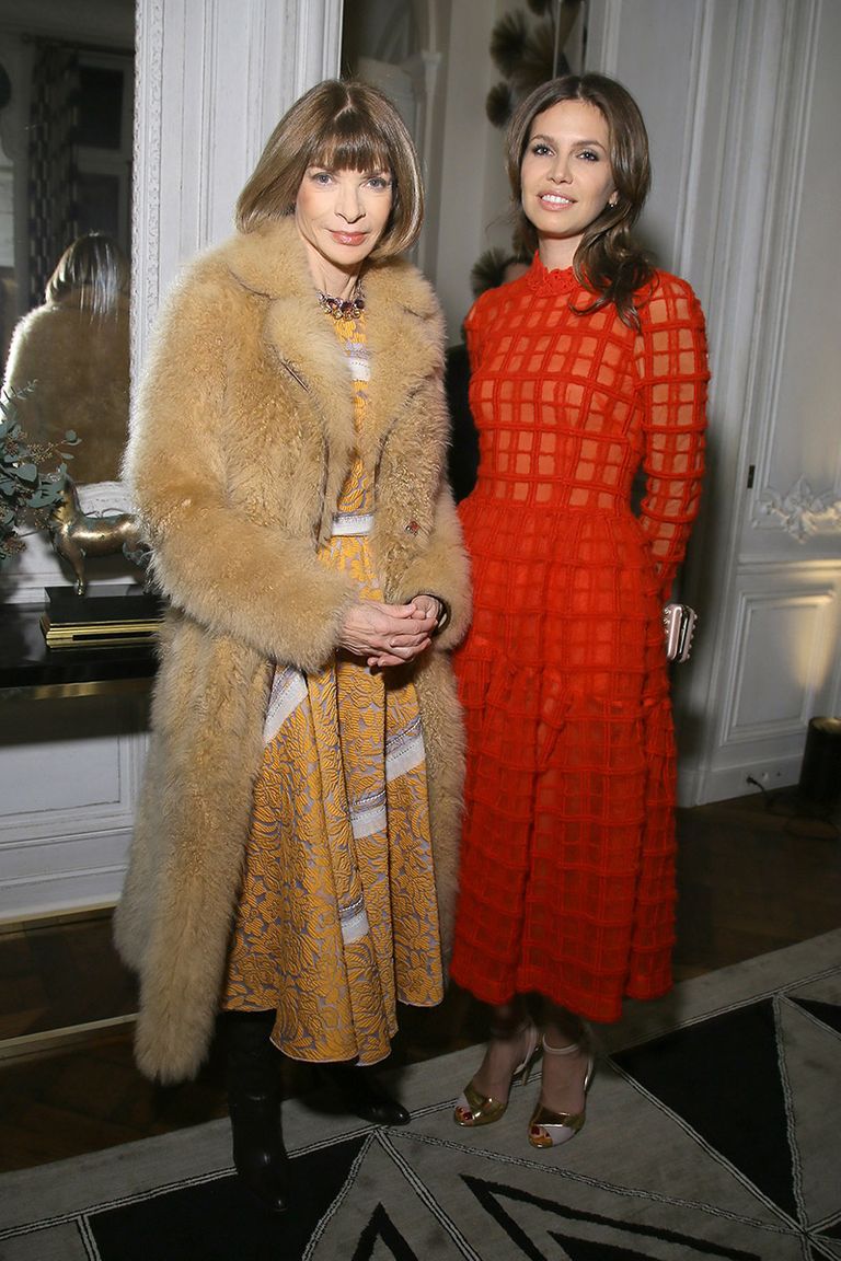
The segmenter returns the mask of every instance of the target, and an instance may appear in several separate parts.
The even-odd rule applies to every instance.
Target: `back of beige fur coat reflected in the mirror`
[[[16,402],[30,438],[61,448],[68,429],[77,433],[78,446],[66,448],[74,482],[112,482],[129,436],[127,298],[103,319],[91,319],[77,293],[29,311],[15,325],[4,386],[32,387]]]

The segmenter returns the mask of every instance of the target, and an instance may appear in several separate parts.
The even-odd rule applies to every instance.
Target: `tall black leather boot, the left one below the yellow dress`
[[[228,1112],[237,1174],[272,1213],[289,1204],[289,1156],[280,1130],[274,1011],[226,1011]]]

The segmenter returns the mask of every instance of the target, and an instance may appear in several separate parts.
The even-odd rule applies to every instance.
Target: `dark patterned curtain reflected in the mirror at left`
[[[29,305],[78,236],[78,54],[43,44],[35,53],[29,116]]]

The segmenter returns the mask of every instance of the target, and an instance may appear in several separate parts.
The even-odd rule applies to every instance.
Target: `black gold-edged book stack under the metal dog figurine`
[[[164,617],[159,595],[141,586],[92,586],[77,595],[72,586],[48,586],[40,618],[49,648],[106,648],[148,643]]]

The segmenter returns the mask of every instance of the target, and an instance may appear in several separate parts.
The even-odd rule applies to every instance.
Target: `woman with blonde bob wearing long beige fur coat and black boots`
[[[160,320],[126,475],[171,608],[117,912],[145,1073],[228,1034],[235,1163],[287,1198],[274,1047],[349,1107],[396,1002],[443,996],[468,565],[443,477],[443,322],[390,102],[325,82],[277,125]]]

